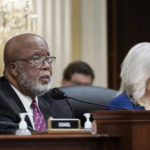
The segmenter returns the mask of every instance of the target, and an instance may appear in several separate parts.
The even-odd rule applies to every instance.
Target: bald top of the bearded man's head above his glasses
[[[39,43],[43,49],[48,47],[42,37],[32,33],[25,33],[11,38],[4,48],[5,65],[18,58],[28,57],[28,51],[36,49],[36,45]]]

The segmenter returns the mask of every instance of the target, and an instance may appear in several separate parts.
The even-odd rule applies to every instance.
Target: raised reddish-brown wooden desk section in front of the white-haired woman
[[[120,150],[150,149],[150,111],[93,111],[99,134],[120,136]]]

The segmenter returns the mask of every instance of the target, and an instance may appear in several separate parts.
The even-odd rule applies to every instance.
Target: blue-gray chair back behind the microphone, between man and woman
[[[110,100],[117,94],[116,90],[98,86],[64,86],[59,89],[65,92],[68,97],[85,102],[82,103],[68,98],[68,102],[73,109],[74,116],[81,119],[82,124],[85,120],[83,117],[84,113],[91,112],[92,110],[105,110]],[[86,102],[99,105],[87,104]]]

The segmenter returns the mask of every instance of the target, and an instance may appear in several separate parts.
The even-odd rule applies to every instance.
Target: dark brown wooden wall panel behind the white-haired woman
[[[108,86],[118,89],[120,65],[135,44],[150,41],[149,0],[107,0]]]

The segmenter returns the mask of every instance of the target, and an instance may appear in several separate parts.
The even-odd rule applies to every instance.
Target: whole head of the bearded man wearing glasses
[[[4,48],[4,76],[24,95],[34,98],[50,88],[52,67],[46,41],[26,33],[11,38]]]

